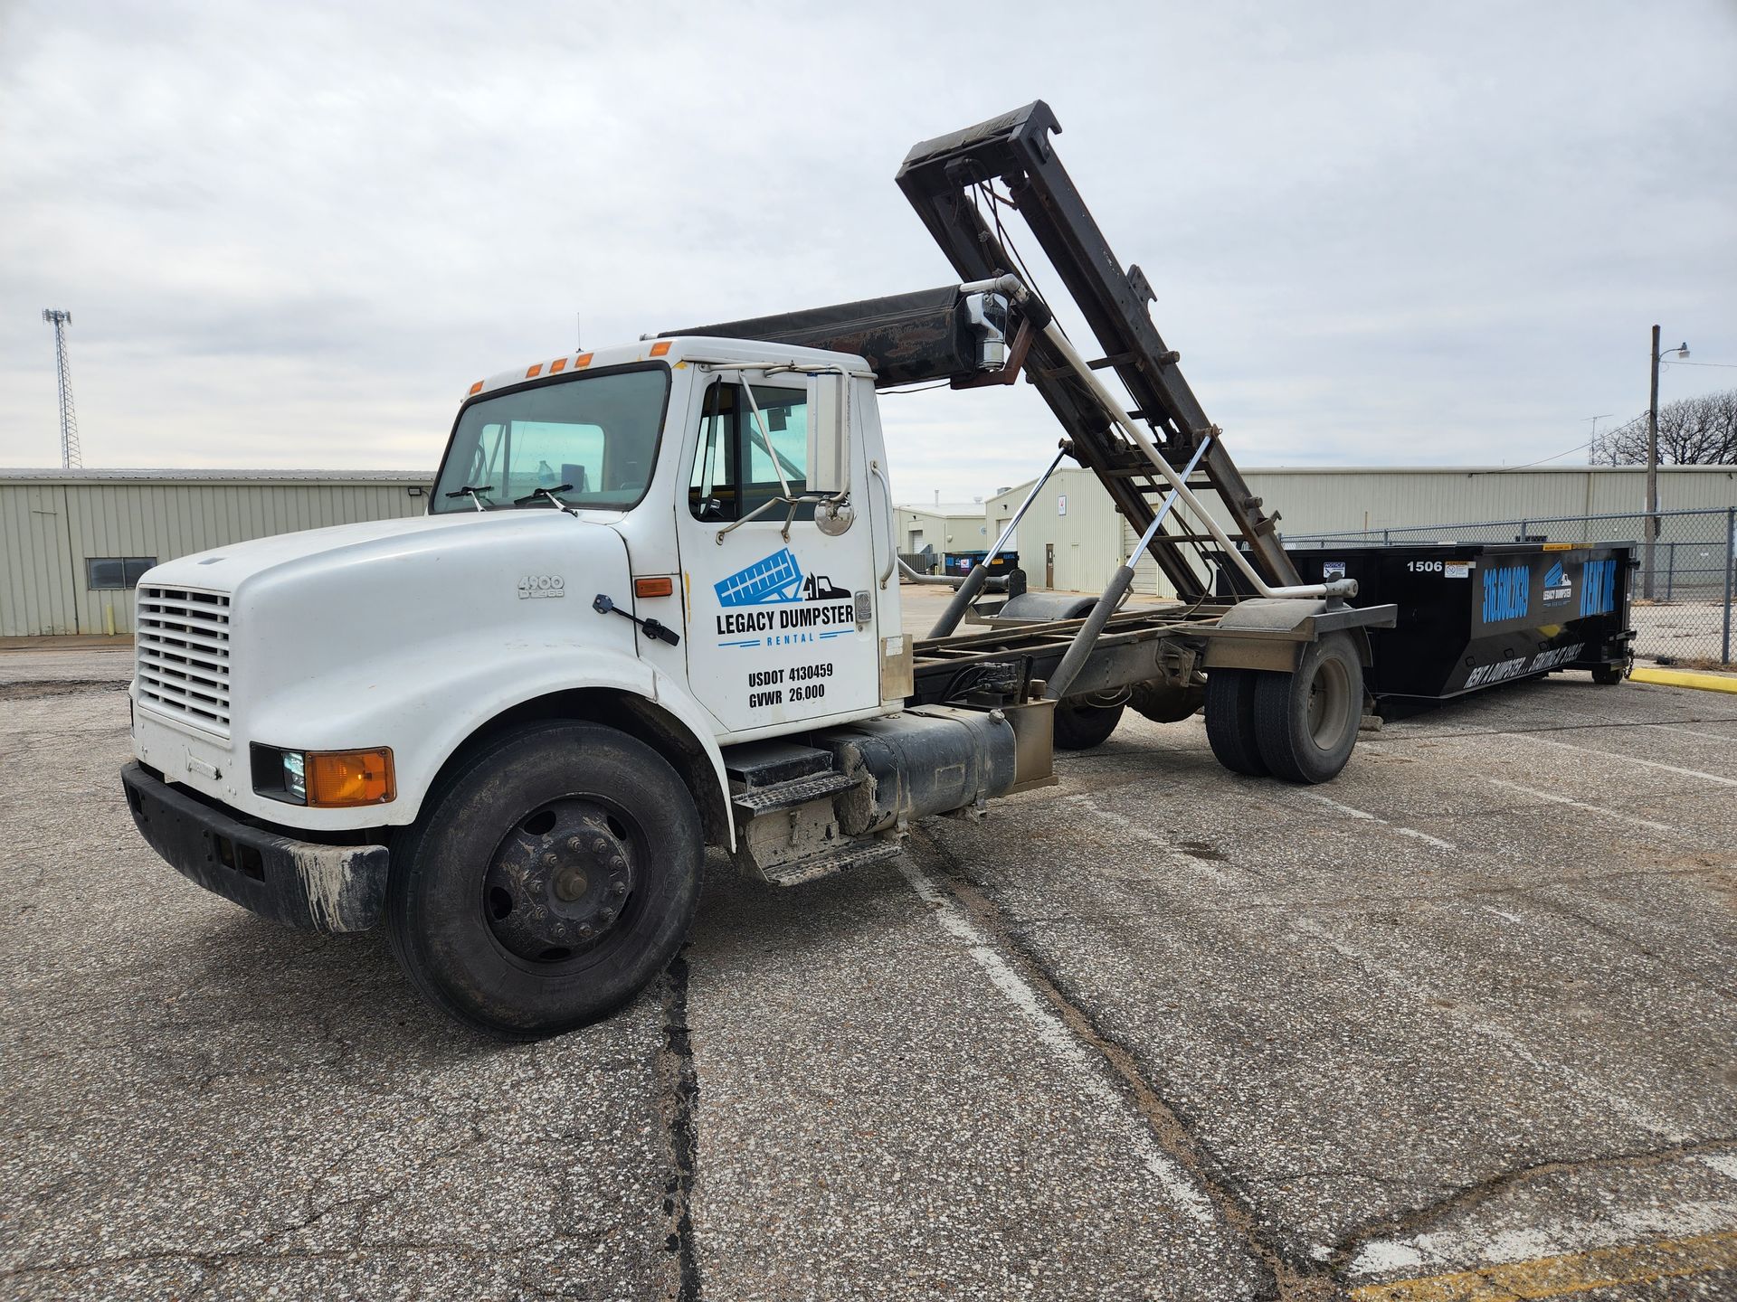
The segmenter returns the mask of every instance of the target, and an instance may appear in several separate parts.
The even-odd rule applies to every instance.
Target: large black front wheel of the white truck
[[[526,724],[460,762],[393,845],[386,930],[417,990],[509,1040],[606,1017],[676,957],[700,812],[643,741]]]

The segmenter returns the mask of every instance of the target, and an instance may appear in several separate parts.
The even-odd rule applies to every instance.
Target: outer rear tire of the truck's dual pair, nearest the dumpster
[[[1350,634],[1303,651],[1296,674],[1261,674],[1254,684],[1254,736],[1275,778],[1331,781],[1351,759],[1364,715],[1364,663]]]

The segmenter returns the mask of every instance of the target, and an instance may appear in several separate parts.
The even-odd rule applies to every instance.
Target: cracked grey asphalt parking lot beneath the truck
[[[1737,696],[1129,715],[500,1045],[144,847],[129,672],[0,653],[7,1297],[1737,1297]]]

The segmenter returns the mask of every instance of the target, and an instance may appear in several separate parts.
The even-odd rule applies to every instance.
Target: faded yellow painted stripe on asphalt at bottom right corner
[[[1737,1269],[1737,1231],[1357,1285],[1351,1302],[1515,1302]]]

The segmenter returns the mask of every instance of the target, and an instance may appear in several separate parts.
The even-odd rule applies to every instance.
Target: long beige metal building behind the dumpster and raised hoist
[[[1251,469],[1244,470],[1244,479],[1265,500],[1266,510],[1280,512],[1280,533],[1294,538],[1527,516],[1640,512],[1645,509],[1647,472],[1638,465],[1527,470],[1332,465]],[[1028,479],[988,500],[990,543],[1030,490]],[[1207,500],[1216,503],[1214,495]],[[1668,465],[1659,470],[1661,510],[1725,510],[1734,505],[1737,465]],[[1225,523],[1221,516],[1219,523]],[[1051,476],[1009,547],[1020,552],[1020,568],[1034,587],[1100,592],[1138,542],[1098,479],[1089,470],[1067,469]],[[1138,592],[1164,595],[1150,557],[1134,569]]]

